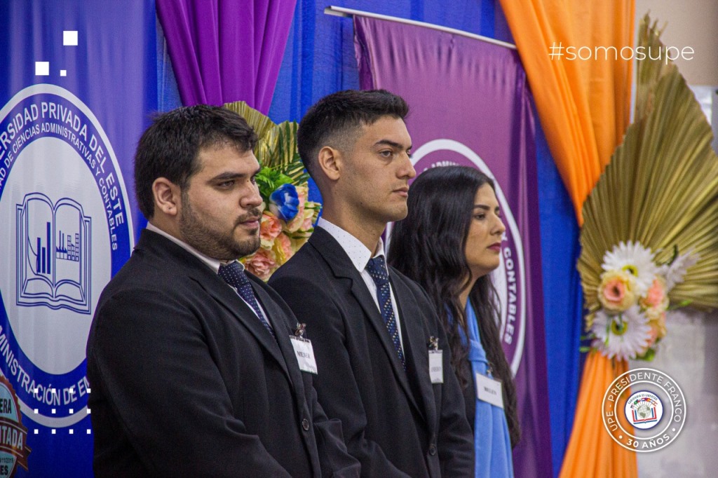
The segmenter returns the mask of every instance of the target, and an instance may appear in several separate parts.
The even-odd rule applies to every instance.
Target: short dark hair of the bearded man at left
[[[257,135],[233,111],[218,106],[177,108],[154,118],[144,131],[135,153],[134,179],[139,209],[154,216],[152,183],[166,177],[184,189],[200,169],[200,149],[231,146],[240,153],[254,149]]]

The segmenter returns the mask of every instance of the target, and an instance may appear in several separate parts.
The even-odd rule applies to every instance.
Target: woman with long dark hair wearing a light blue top
[[[474,428],[476,477],[513,476],[511,449],[521,438],[490,278],[504,231],[489,177],[470,167],[436,167],[411,184],[409,215],[394,225],[388,252],[392,266],[424,287],[447,329]],[[494,379],[501,383],[503,410],[477,397],[476,381]]]

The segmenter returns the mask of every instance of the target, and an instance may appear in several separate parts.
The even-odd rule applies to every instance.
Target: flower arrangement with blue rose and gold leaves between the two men
[[[256,175],[263,200],[261,245],[241,262],[248,271],[267,281],[307,242],[322,205],[308,199],[309,176],[297,152],[297,123],[274,124],[243,101],[224,107],[243,116],[259,138],[254,154],[262,165]]]

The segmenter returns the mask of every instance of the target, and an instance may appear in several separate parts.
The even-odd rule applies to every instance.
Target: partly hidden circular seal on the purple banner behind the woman
[[[451,151],[451,160],[442,153]],[[411,154],[416,174],[426,169],[442,166],[468,166],[479,169],[494,178],[487,164],[465,144],[452,139],[434,139],[421,145]],[[498,292],[501,324],[499,336],[506,353],[506,359],[516,375],[523,355],[523,341],[526,334],[526,266],[524,264],[523,242],[511,208],[503,190],[495,182],[496,199],[506,225],[501,241],[500,266],[493,271],[492,281]]]

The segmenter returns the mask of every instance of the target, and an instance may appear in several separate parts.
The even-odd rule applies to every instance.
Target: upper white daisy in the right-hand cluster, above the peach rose
[[[659,272],[658,266],[653,262],[655,254],[644,248],[638,242],[621,241],[613,249],[603,255],[601,267],[604,271],[625,271],[635,277],[636,293],[643,296],[653,283],[653,278]]]

